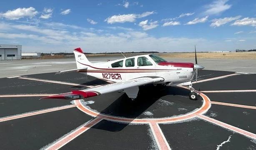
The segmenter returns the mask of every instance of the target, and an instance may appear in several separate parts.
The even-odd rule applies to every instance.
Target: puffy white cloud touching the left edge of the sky
[[[18,20],[23,17],[34,17],[38,12],[34,7],[17,8],[16,10],[8,10],[5,13],[0,13],[0,17],[5,17],[10,20]]]

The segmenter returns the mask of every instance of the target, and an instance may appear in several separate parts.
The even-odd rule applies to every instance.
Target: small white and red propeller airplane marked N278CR
[[[192,100],[198,99],[191,80],[193,80],[194,75],[196,75],[197,79],[198,70],[204,67],[197,64],[196,47],[196,64],[167,62],[163,58],[151,54],[91,63],[81,48],[75,48],[73,52],[77,68],[59,71],[56,74],[77,71],[110,83],[43,98],[75,100],[117,91],[125,92],[133,100],[138,95],[139,86],[161,84],[166,86],[188,86],[191,90],[189,98]]]

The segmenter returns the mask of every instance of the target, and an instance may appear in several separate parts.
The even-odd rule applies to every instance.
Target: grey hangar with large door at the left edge
[[[0,60],[21,59],[21,45],[0,44]]]

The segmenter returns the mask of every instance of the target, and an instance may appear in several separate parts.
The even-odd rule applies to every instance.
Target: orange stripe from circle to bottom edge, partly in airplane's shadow
[[[99,123],[102,120],[103,119],[99,117],[93,119],[92,121],[88,122],[85,126],[78,128],[77,130],[73,131],[72,133],[60,139],[58,142],[54,143],[53,145],[50,145],[50,147],[46,148],[46,150],[60,149],[61,147],[69,143],[71,140],[75,139],[76,137],[78,137],[79,135],[81,135],[82,133],[84,133],[85,131],[87,131],[88,129],[90,129],[91,127],[93,127],[95,124]]]

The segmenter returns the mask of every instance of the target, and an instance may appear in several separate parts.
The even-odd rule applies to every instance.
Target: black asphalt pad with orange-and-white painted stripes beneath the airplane
[[[41,97],[106,84],[80,73],[0,78],[0,149],[256,149],[256,74],[202,70],[184,87],[84,100]]]

